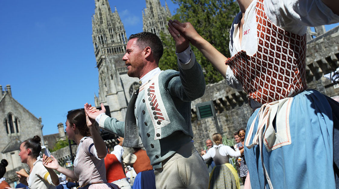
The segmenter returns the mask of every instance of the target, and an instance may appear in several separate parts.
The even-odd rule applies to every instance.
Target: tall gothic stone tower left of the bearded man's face
[[[95,105],[109,106],[111,116],[124,120],[129,90],[139,80],[127,76],[122,57],[127,38],[117,9],[112,12],[107,0],[95,0],[95,14],[92,17],[92,39],[99,71],[99,96]],[[125,87],[124,87],[125,86]]]

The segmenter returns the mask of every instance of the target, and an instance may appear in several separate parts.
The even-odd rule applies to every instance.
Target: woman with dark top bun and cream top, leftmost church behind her
[[[20,183],[30,189],[55,189],[60,180],[58,175],[52,169],[45,167],[41,158],[38,158],[41,151],[40,141],[40,137],[36,135],[21,143],[19,156],[21,162],[28,165],[29,175],[23,169],[16,173]]]

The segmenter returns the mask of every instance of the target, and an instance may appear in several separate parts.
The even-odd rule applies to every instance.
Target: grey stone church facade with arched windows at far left
[[[12,97],[10,85],[6,85],[5,90],[0,85],[0,119],[0,133],[3,133],[0,140],[0,158],[8,161],[4,177],[12,184],[18,180],[15,171],[21,168],[28,170],[28,166],[21,163],[19,157],[21,142],[38,135],[43,145],[41,117],[35,117]]]

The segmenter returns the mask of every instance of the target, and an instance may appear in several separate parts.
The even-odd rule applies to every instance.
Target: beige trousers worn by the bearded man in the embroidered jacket
[[[157,189],[208,188],[208,169],[193,142],[164,160],[162,168],[155,169],[154,174]]]

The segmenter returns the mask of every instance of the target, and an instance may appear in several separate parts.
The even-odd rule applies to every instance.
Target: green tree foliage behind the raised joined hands
[[[236,1],[233,0],[172,0],[179,5],[176,15],[171,19],[180,22],[191,22],[197,32],[218,51],[226,57],[230,57],[229,42],[230,28],[234,17],[239,12]],[[164,54],[159,67],[162,70],[178,70],[175,55],[175,43],[171,35],[161,34],[160,38],[164,45]],[[222,75],[213,65],[191,46],[197,61],[201,64],[206,83],[215,83],[223,79]]]

